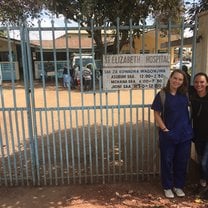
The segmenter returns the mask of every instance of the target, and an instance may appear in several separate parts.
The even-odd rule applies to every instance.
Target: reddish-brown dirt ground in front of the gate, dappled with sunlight
[[[18,91],[19,92],[19,91]],[[21,92],[21,91],[20,91]],[[54,93],[54,91],[52,91]],[[24,93],[24,91],[22,91]],[[77,93],[78,94],[78,93]],[[18,95],[17,97],[21,97]],[[40,96],[39,96],[40,97]],[[52,97],[52,96],[51,96]],[[7,99],[10,96],[6,96]],[[124,97],[126,99],[126,97]],[[150,98],[149,98],[150,99]],[[78,100],[78,99],[77,99]],[[90,99],[89,99],[90,100]],[[92,99],[91,99],[92,100]],[[78,100],[79,101],[79,100]],[[76,99],[73,102],[79,103]],[[112,99],[112,101],[114,101]],[[22,102],[22,99],[21,99]],[[11,103],[11,102],[7,102]],[[194,172],[193,172],[194,175]],[[137,183],[65,185],[43,187],[0,187],[1,208],[203,208],[208,201],[194,193],[196,181],[189,178],[186,197],[166,199],[160,179]]]

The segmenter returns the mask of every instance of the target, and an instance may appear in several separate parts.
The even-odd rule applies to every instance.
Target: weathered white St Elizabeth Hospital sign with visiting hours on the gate
[[[169,54],[103,56],[103,89],[159,89],[170,75]]]

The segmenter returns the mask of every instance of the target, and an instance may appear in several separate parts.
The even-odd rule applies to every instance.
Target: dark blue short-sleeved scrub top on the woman
[[[164,123],[170,130],[159,130],[159,139],[169,139],[173,143],[180,143],[193,138],[193,130],[188,111],[188,98],[186,95],[177,93],[172,95],[166,92],[164,103]],[[159,93],[155,96],[151,109],[163,112],[163,106]]]

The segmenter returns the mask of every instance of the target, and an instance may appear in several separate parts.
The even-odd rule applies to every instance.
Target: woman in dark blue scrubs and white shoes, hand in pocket
[[[164,101],[159,92],[151,106],[159,126],[161,182],[167,198],[174,198],[174,193],[183,197],[193,137],[186,74],[174,70],[162,91],[165,93]]]

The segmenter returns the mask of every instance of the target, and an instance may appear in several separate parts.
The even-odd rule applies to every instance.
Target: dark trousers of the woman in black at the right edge
[[[195,148],[200,165],[200,179],[208,179],[208,141],[196,141]]]

